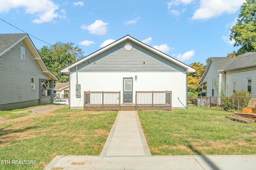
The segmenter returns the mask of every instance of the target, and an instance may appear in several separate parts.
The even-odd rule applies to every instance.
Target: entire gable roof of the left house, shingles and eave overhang
[[[30,37],[26,33],[0,34],[0,56],[12,49],[12,47],[20,43],[22,40],[26,43],[31,53],[34,55],[35,60],[42,69],[42,72],[46,73],[50,78],[52,78],[52,80],[58,80],[58,78],[46,68],[44,61],[36,50],[36,47],[32,43]]]

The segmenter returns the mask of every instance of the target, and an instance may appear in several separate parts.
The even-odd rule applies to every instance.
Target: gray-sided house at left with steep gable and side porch
[[[28,34],[0,34],[0,110],[52,104],[54,80]]]

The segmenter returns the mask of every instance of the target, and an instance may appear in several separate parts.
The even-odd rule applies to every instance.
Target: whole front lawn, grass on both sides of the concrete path
[[[42,170],[56,155],[99,155],[118,113],[68,107],[49,114],[12,112],[0,112],[0,160],[36,164],[0,162],[1,170]],[[138,111],[152,155],[255,154],[256,123],[232,121],[226,113],[196,106]]]

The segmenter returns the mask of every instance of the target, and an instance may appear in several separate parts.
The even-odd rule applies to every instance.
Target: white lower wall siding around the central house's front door
[[[137,76],[137,81],[135,81]],[[70,107],[82,108],[84,91],[121,92],[123,100],[123,78],[133,78],[133,103],[136,91],[172,91],[172,107],[186,106],[186,72],[78,72],[81,98],[76,98],[76,72],[70,73]]]

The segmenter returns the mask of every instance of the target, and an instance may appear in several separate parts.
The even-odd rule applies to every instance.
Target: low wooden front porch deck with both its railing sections
[[[135,105],[121,105],[121,92],[84,92],[84,110],[171,110],[172,91],[136,91]],[[122,107],[123,106],[123,107]]]

